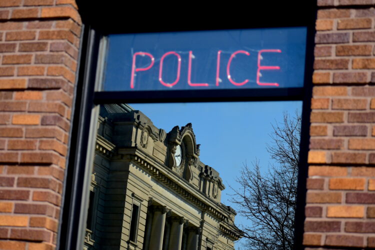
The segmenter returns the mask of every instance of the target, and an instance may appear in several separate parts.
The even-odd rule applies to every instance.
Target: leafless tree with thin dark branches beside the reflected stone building
[[[272,125],[271,143],[266,146],[276,164],[269,165],[266,173],[257,160],[251,167],[244,164],[236,180],[240,188],[232,188],[231,201],[250,221],[239,226],[250,249],[293,248],[300,123],[297,112],[294,117],[285,112],[282,122]]]

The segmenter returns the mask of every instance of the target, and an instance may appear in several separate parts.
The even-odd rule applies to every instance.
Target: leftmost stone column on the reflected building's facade
[[[164,225],[165,225],[165,206],[155,206],[152,218],[151,235],[149,241],[149,250],[161,250],[163,245]]]

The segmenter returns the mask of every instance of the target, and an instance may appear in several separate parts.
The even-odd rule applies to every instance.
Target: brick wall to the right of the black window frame
[[[317,2],[303,243],[375,247],[375,2]]]

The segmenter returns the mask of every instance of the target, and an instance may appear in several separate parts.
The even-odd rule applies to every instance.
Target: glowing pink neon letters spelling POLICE
[[[254,81],[256,82],[257,85],[260,85],[260,86],[279,86],[278,82],[261,82],[260,81],[260,77],[261,77],[260,71],[261,70],[280,70],[280,66],[278,66],[278,65],[262,65],[261,64],[261,60],[263,59],[263,56],[266,56],[267,53],[281,53],[281,50],[280,49],[260,49],[258,51],[257,58],[256,58],[257,59],[256,79]],[[214,78],[214,82],[215,82],[216,86],[219,86],[220,82],[221,82],[221,79],[219,77],[221,54],[222,54],[222,50],[218,50],[217,51],[217,57],[216,57],[216,63],[215,63],[216,64],[216,74],[215,74],[215,78]],[[242,85],[245,85],[246,83],[249,82],[249,79],[244,79],[241,82],[237,82],[237,81],[234,80],[235,77],[231,74],[232,65],[236,65],[237,67],[239,66],[238,62],[236,62],[236,60],[234,58],[236,58],[236,56],[243,56],[243,55],[240,55],[240,54],[243,54],[245,56],[251,56],[251,54],[246,50],[236,50],[236,51],[234,51],[230,54],[230,57],[229,57],[229,59],[226,63],[226,77],[227,77],[228,81],[235,86],[242,86]],[[137,56],[147,56],[147,57],[149,57],[149,64],[145,67],[136,67]],[[175,77],[175,80],[173,82],[170,82],[170,83],[165,82],[162,78],[163,68],[165,66],[167,66],[164,63],[164,59],[167,56],[175,56],[177,58],[176,77]],[[191,81],[191,71],[192,71],[191,67],[192,67],[192,59],[193,58],[194,58],[193,51],[189,50],[188,51],[188,63],[187,63],[187,79],[186,79],[187,84],[191,87],[206,87],[206,86],[209,86],[209,84],[207,82],[192,82]],[[137,51],[132,55],[130,88],[134,88],[134,84],[135,84],[134,80],[136,78],[136,72],[149,70],[154,65],[154,62],[155,62],[154,56],[151,53],[148,53],[148,52]],[[253,70],[253,69],[248,68],[246,70]],[[179,53],[177,53],[176,51],[165,52],[160,57],[158,77],[157,77],[158,81],[160,82],[160,84],[162,84],[163,86],[166,86],[166,87],[173,87],[177,83],[185,84],[186,82],[181,80],[180,75],[181,75],[181,55]]]

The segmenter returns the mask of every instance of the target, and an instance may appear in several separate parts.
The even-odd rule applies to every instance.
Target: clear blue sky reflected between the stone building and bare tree
[[[235,178],[241,166],[259,160],[263,170],[271,162],[265,147],[270,143],[272,124],[281,121],[283,112],[301,111],[301,101],[263,102],[205,102],[205,103],[137,103],[158,128],[169,132],[172,127],[191,122],[196,142],[200,145],[200,160],[212,166],[223,179],[226,189],[221,202],[236,208],[229,200],[233,188],[239,186]],[[246,224],[239,215],[236,223]],[[240,243],[236,244],[236,248]]]

